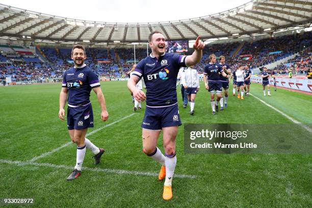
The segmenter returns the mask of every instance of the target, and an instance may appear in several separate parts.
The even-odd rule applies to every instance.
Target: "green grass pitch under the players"
[[[163,181],[155,176],[160,165],[142,152],[145,103],[142,110],[133,112],[126,82],[101,84],[110,117],[100,121],[100,108],[91,92],[95,127],[89,133],[102,129],[88,138],[106,152],[95,166],[87,150],[83,167],[88,168],[73,181],[66,177],[75,164],[75,145],[34,159],[70,142],[66,121],[58,118],[61,84],[0,87],[1,199],[33,198],[32,207],[312,206],[311,154],[184,154],[183,126],[176,142],[175,174],[180,177],[173,179],[173,199],[164,201]],[[231,87],[229,92],[228,108],[213,116],[202,83],[191,116],[189,109],[183,109],[177,89],[181,120],[293,123],[253,96],[240,100],[231,95]],[[250,92],[299,122],[312,121],[311,95],[272,88],[272,96],[264,97],[258,84],[252,84]],[[158,146],[163,150],[161,138]],[[8,205],[12,206],[29,207]]]

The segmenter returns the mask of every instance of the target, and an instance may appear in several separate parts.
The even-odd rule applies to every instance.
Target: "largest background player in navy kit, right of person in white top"
[[[204,83],[205,88],[210,92],[210,104],[212,108],[212,114],[215,115],[216,111],[219,110],[219,101],[221,99],[222,84],[220,82],[220,75],[228,77],[224,73],[223,69],[217,64],[216,55],[211,54],[209,56],[210,63],[208,63],[204,68]],[[208,76],[208,79],[207,77]],[[207,82],[208,81],[208,82]],[[215,94],[217,94],[217,99],[215,101]]]

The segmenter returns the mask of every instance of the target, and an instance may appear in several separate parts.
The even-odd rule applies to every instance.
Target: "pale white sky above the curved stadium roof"
[[[104,22],[158,22],[195,18],[223,12],[250,0],[158,0],[152,1],[21,1],[1,0],[1,4],[61,17]]]

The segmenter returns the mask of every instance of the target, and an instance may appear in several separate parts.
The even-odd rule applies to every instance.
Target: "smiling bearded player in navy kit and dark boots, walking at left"
[[[67,128],[70,139],[77,145],[76,165],[67,180],[73,180],[81,175],[86,147],[94,153],[95,164],[100,162],[104,152],[103,148],[96,147],[85,138],[88,128],[93,127],[93,111],[90,102],[90,92],[93,90],[101,107],[101,120],[109,117],[106,110],[105,98],[100,88],[97,75],[85,64],[86,49],[82,45],[74,45],[71,51],[71,59],[74,67],[65,71],[62,90],[60,93],[59,118],[64,120],[65,104],[67,108]]]

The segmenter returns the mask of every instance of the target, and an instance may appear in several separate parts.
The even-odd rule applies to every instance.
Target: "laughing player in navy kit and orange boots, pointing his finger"
[[[128,81],[128,89],[138,100],[146,99],[146,110],[142,122],[143,152],[162,164],[159,179],[165,178],[163,198],[172,198],[171,183],[176,165],[175,138],[181,125],[177,106],[176,77],[180,67],[193,66],[200,62],[204,43],[197,37],[194,53],[190,56],[165,53],[165,37],[158,31],[148,36],[152,49],[150,56],[141,60]],[[136,88],[143,77],[146,95]],[[163,131],[165,155],[157,147]]]

